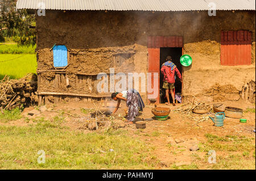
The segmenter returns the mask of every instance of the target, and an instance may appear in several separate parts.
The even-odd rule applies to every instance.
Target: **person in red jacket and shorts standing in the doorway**
[[[163,89],[166,89],[166,98],[167,98],[167,105],[170,105],[170,97],[169,92],[171,92],[172,96],[172,105],[175,106],[174,102],[174,83],[175,83],[175,73],[180,79],[180,82],[182,83],[182,77],[180,74],[180,71],[177,69],[176,65],[172,62],[172,57],[167,56],[166,62],[163,63],[161,72],[164,75],[163,78]]]

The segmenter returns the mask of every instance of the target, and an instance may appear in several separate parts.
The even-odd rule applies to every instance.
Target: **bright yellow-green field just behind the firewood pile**
[[[36,73],[36,66],[35,54],[0,54],[0,79],[5,75],[17,79],[27,73]]]

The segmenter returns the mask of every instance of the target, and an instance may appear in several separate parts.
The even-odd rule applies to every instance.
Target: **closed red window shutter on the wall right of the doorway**
[[[251,32],[221,32],[221,65],[251,64]]]

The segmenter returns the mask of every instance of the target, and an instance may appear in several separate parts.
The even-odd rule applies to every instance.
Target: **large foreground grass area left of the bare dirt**
[[[154,169],[158,164],[150,159],[150,147],[127,131],[85,134],[38,123],[0,126],[0,169]],[[39,150],[46,163],[37,162]]]

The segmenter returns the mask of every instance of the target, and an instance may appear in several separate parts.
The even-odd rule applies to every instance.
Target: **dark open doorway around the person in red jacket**
[[[182,76],[182,65],[180,64],[180,57],[182,56],[182,48],[175,47],[175,48],[160,48],[160,69],[164,62],[166,62],[166,57],[171,56],[172,62],[177,66],[177,69],[180,71],[180,74]],[[176,75],[176,74],[175,74]],[[163,89],[163,74],[160,73],[160,87],[159,87],[159,93],[160,93],[160,103],[166,103],[166,90]],[[179,81],[179,78],[176,75],[176,81],[175,81],[175,94],[181,95],[182,91],[182,83]],[[170,102],[172,102],[172,97],[170,95]]]

